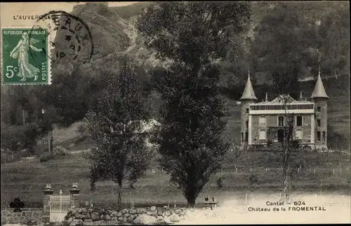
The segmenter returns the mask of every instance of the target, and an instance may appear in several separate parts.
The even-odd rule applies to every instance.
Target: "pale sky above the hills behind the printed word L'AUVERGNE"
[[[128,6],[138,1],[114,1],[109,2],[109,6]],[[44,15],[51,10],[64,10],[72,12],[73,6],[86,2],[16,2],[0,3],[0,27],[8,26],[32,26],[35,20],[15,20],[20,15]]]

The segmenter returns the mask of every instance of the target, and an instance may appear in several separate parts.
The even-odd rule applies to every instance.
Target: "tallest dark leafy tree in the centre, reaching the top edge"
[[[171,66],[155,81],[161,167],[183,190],[190,206],[222,167],[230,144],[223,139],[225,103],[219,95],[218,59],[250,17],[244,2],[164,2],[147,6],[137,27],[145,45]],[[167,18],[167,20],[164,20]]]

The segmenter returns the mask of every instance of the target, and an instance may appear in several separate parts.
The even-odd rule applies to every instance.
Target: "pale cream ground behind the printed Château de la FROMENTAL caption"
[[[266,202],[277,202],[272,197],[265,195],[256,196],[253,204],[244,206],[242,200],[227,200],[217,209],[194,209],[189,211],[184,220],[178,225],[213,225],[213,224],[262,224],[262,223],[351,223],[350,196],[333,195],[328,197],[314,197],[314,195],[303,195],[296,197],[297,200],[305,202],[301,204],[284,204],[284,206],[267,206]],[[293,199],[294,200],[294,199]],[[323,202],[324,201],[324,202]],[[296,207],[320,206],[321,211],[297,211]],[[266,208],[270,211],[249,211],[251,208]],[[273,211],[273,208],[286,211]],[[289,208],[290,207],[290,208]],[[295,211],[293,211],[293,207]],[[317,207],[317,209],[319,209]],[[289,211],[290,209],[290,211]],[[325,209],[325,211],[323,211]]]

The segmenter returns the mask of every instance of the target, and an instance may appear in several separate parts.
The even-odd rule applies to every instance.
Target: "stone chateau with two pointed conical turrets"
[[[266,93],[265,100],[258,102],[249,73],[240,99],[241,143],[267,145],[267,141],[283,142],[286,122],[291,122],[294,139],[302,145],[326,148],[328,99],[319,73],[310,101],[303,99],[301,92],[299,100],[285,94],[268,101]],[[285,115],[288,115],[287,119]]]

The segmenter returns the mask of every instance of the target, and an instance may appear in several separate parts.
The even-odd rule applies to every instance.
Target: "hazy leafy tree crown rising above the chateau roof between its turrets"
[[[253,71],[270,76],[278,94],[298,95],[298,78],[307,66],[316,69],[314,61],[307,64],[310,55],[305,53],[317,47],[315,26],[300,15],[295,4],[282,2],[270,9],[256,27],[251,48]]]

